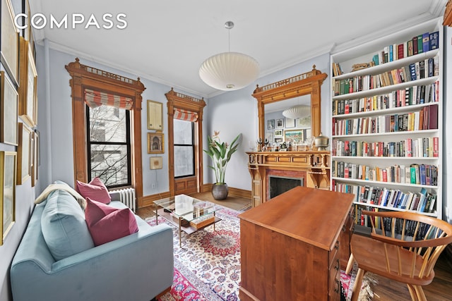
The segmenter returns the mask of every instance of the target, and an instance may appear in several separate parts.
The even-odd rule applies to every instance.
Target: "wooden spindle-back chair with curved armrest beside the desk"
[[[401,211],[362,211],[371,223],[371,237],[353,234],[352,255],[358,272],[352,301],[357,300],[366,271],[406,283],[412,300],[427,300],[422,285],[434,278],[434,265],[452,242],[452,225],[432,216]]]

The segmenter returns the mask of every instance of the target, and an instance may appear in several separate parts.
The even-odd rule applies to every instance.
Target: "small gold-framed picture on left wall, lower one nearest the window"
[[[30,146],[32,130],[24,123],[18,123],[19,145],[17,147],[17,185],[22,185],[30,178]]]

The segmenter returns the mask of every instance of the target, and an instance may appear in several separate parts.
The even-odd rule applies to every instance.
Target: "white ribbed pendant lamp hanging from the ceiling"
[[[242,89],[254,82],[259,75],[259,63],[256,59],[246,54],[230,51],[230,30],[233,27],[232,21],[225,23],[229,36],[228,51],[210,56],[199,68],[199,77],[203,82],[223,91]]]

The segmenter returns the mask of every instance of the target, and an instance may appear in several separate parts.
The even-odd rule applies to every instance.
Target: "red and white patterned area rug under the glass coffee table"
[[[235,301],[239,300],[240,287],[240,222],[241,212],[223,207],[215,214],[222,221],[191,235],[182,232],[182,248],[179,247],[179,231],[174,235],[174,283],[169,293],[158,300],[177,301]],[[155,225],[155,217],[146,221]],[[159,216],[159,223],[168,223]],[[341,281],[350,300],[356,268],[352,276],[341,273]],[[364,276],[363,286],[366,283]],[[369,291],[371,293],[370,287]],[[361,294],[360,294],[361,295]],[[368,294],[366,294],[368,295]],[[371,300],[371,299],[359,299]]]

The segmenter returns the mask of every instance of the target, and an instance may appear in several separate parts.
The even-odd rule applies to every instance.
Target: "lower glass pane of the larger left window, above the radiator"
[[[126,145],[91,145],[91,178],[106,186],[127,185],[127,167]]]

